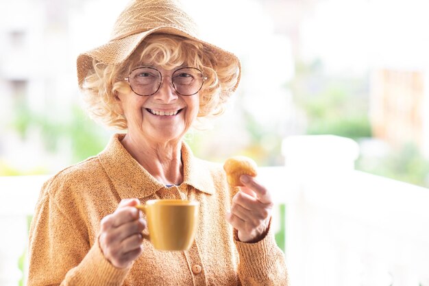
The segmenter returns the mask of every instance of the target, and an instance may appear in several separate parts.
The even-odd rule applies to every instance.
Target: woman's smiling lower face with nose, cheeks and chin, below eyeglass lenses
[[[128,92],[118,93],[128,134],[135,138],[144,137],[152,143],[180,141],[197,118],[199,94],[179,95],[171,84],[170,76],[174,70],[156,69],[162,73],[162,84],[154,95],[136,95],[131,88]]]

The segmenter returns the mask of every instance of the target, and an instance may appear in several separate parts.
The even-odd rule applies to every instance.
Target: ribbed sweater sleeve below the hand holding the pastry
[[[271,229],[270,226],[267,235],[256,243],[239,241],[234,229],[234,243],[240,258],[238,277],[243,286],[289,285],[284,253],[275,243]]]

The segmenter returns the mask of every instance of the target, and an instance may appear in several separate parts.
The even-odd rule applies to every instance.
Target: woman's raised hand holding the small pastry
[[[267,235],[273,201],[269,191],[253,177],[242,175],[245,187],[232,198],[231,211],[226,220],[238,230],[238,239],[257,242]]]

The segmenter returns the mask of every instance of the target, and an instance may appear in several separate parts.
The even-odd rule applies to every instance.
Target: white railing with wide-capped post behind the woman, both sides
[[[357,155],[350,139],[297,136],[284,143],[285,167],[260,168],[286,204],[291,285],[429,286],[429,189],[355,171]],[[0,177],[0,285],[18,285],[27,215],[46,179]]]

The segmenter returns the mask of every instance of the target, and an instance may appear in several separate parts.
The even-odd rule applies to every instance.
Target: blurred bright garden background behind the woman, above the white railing
[[[287,136],[336,134],[359,143],[356,169],[428,187],[426,1],[182,2],[243,62],[228,111],[188,136],[198,156],[283,165]],[[53,174],[106,145],[114,131],[82,111],[75,59],[125,3],[0,2],[0,175]]]

